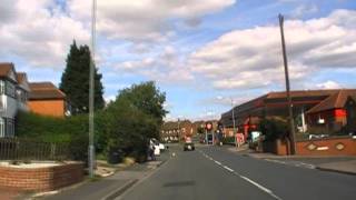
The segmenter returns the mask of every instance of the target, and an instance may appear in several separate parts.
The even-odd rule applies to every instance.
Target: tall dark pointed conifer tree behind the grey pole
[[[67,57],[67,66],[59,84],[72,107],[72,113],[89,112],[89,71],[90,71],[90,49],[88,46],[77,47],[76,41],[70,46]],[[102,76],[95,68],[95,109],[102,109],[105,100],[102,98],[103,87]]]

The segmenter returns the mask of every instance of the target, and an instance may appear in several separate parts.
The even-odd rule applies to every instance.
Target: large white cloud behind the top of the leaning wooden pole
[[[326,68],[355,68],[356,11],[338,10],[307,21],[285,22],[290,78],[304,81]],[[279,27],[222,34],[190,54],[189,69],[217,89],[284,84]]]

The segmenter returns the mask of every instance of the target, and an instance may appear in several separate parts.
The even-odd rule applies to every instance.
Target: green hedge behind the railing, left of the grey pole
[[[16,133],[19,138],[42,142],[68,143],[69,159],[87,161],[87,114],[53,118],[31,112],[19,112]]]

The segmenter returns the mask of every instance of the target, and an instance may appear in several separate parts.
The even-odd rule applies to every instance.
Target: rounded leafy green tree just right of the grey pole
[[[150,138],[158,138],[162,118],[167,113],[162,104],[166,94],[154,82],[134,84],[119,92],[100,117],[101,147],[107,152],[119,151],[123,156],[146,158]]]

